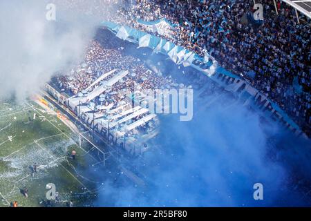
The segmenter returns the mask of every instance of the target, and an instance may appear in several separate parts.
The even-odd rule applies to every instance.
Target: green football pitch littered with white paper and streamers
[[[69,157],[73,149],[75,160]],[[49,183],[59,193],[52,206],[68,206],[69,200],[74,206],[92,206],[103,181],[97,176],[102,164],[91,151],[88,145],[78,146],[77,134],[35,102],[0,103],[0,206],[14,201],[46,206]],[[37,173],[32,173],[35,163]],[[25,188],[28,198],[21,194]]]

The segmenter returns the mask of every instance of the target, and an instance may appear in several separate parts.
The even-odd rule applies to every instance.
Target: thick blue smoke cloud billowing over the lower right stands
[[[293,169],[310,179],[305,144],[239,104],[220,103],[197,111],[191,122],[162,117],[154,143],[160,151],[147,153],[140,168],[147,186],[106,182],[97,206],[310,205],[289,181]],[[253,198],[255,183],[263,184],[263,200]]]

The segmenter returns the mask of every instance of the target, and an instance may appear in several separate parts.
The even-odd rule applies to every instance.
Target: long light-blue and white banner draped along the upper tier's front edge
[[[167,55],[175,64],[187,67],[191,66],[196,68],[200,72],[210,77],[213,81],[216,81],[220,86],[223,86],[225,90],[230,91],[238,95],[239,99],[243,102],[243,105],[249,106],[256,110],[265,119],[278,122],[284,128],[292,131],[296,135],[306,136],[299,128],[299,126],[290,119],[290,117],[279,108],[274,102],[261,94],[256,88],[253,88],[247,81],[241,79],[225,68],[218,66],[214,57],[206,53],[205,57],[200,57],[195,52],[191,52],[186,48],[176,46],[175,44],[161,39],[159,37],[149,35],[146,32],[135,30],[133,28],[116,26],[111,22],[103,22],[103,26],[109,28],[111,32],[117,33],[121,30],[126,30],[129,33],[129,37],[126,40],[139,44],[140,47],[148,47],[153,52],[160,52]],[[123,37],[124,35],[122,35]],[[121,39],[123,39],[120,37]],[[211,51],[210,51],[211,52]]]

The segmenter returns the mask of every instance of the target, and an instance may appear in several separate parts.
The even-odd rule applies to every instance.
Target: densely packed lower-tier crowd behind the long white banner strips
[[[129,70],[129,75],[126,75],[126,77],[113,84],[109,90],[106,90],[104,99],[101,99],[102,96],[97,97],[95,100],[96,105],[109,106],[113,104],[111,108],[122,105],[122,100],[125,98],[124,93],[128,90],[134,92],[137,89],[142,91],[151,88],[173,88],[176,86],[171,76],[154,75],[143,61],[126,54],[123,50],[120,41],[106,39],[102,32],[98,32],[97,37],[91,41],[86,50],[84,61],[75,66],[70,73],[59,75],[57,77],[57,86],[68,95],[83,96],[83,94],[90,93],[97,86],[100,86],[100,83],[97,83],[95,86],[89,87],[101,75],[116,69],[115,73],[104,78],[104,81],[108,81],[118,71]]]

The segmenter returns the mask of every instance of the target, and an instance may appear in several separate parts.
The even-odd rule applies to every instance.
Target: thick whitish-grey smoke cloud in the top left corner
[[[0,99],[36,93],[55,72],[79,61],[95,24],[57,8],[46,19],[47,1],[0,1]]]

